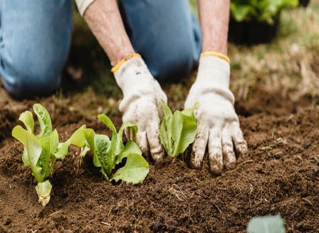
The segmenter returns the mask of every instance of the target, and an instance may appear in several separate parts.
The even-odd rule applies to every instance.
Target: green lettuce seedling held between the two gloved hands
[[[174,114],[164,101],[162,106],[164,119],[159,131],[160,141],[168,156],[177,157],[187,149],[196,136],[197,123],[194,109],[198,107],[198,103],[190,109],[177,110]]]

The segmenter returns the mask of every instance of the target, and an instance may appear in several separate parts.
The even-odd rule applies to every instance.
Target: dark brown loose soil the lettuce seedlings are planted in
[[[256,88],[239,100],[249,153],[218,177],[167,158],[151,164],[140,185],[114,185],[72,147],[56,163],[46,207],[21,161],[23,146],[11,138],[19,115],[35,102],[48,109],[61,141],[82,124],[106,128],[96,119],[106,98],[18,102],[0,88],[0,232],[246,232],[251,217],[278,213],[287,232],[319,232],[319,109],[306,98],[291,102]],[[120,117],[112,116],[117,127]]]

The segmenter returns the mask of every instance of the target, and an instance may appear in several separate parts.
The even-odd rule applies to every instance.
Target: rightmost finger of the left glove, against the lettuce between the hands
[[[164,148],[162,147],[160,138],[158,137],[158,129],[159,124],[153,124],[147,128],[147,141],[150,146],[152,159],[155,161],[155,163],[162,161],[164,158]]]

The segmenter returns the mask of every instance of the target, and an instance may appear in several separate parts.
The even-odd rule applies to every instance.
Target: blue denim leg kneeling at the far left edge
[[[19,98],[52,94],[68,57],[72,1],[1,0],[0,75]]]

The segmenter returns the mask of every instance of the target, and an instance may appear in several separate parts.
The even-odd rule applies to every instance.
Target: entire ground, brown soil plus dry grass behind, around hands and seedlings
[[[20,114],[43,104],[61,141],[83,124],[110,136],[101,113],[117,129],[122,124],[108,60],[75,21],[58,93],[19,102],[0,85],[0,232],[246,232],[252,217],[277,214],[286,232],[319,232],[319,6],[311,3],[283,13],[271,44],[229,46],[231,90],[249,146],[234,170],[215,177],[206,166],[193,170],[166,158],[151,163],[139,185],[113,184],[71,146],[53,169],[51,200],[42,207],[21,161],[23,146],[11,137]],[[194,74],[182,85],[163,85],[172,110],[182,109],[193,81]]]

